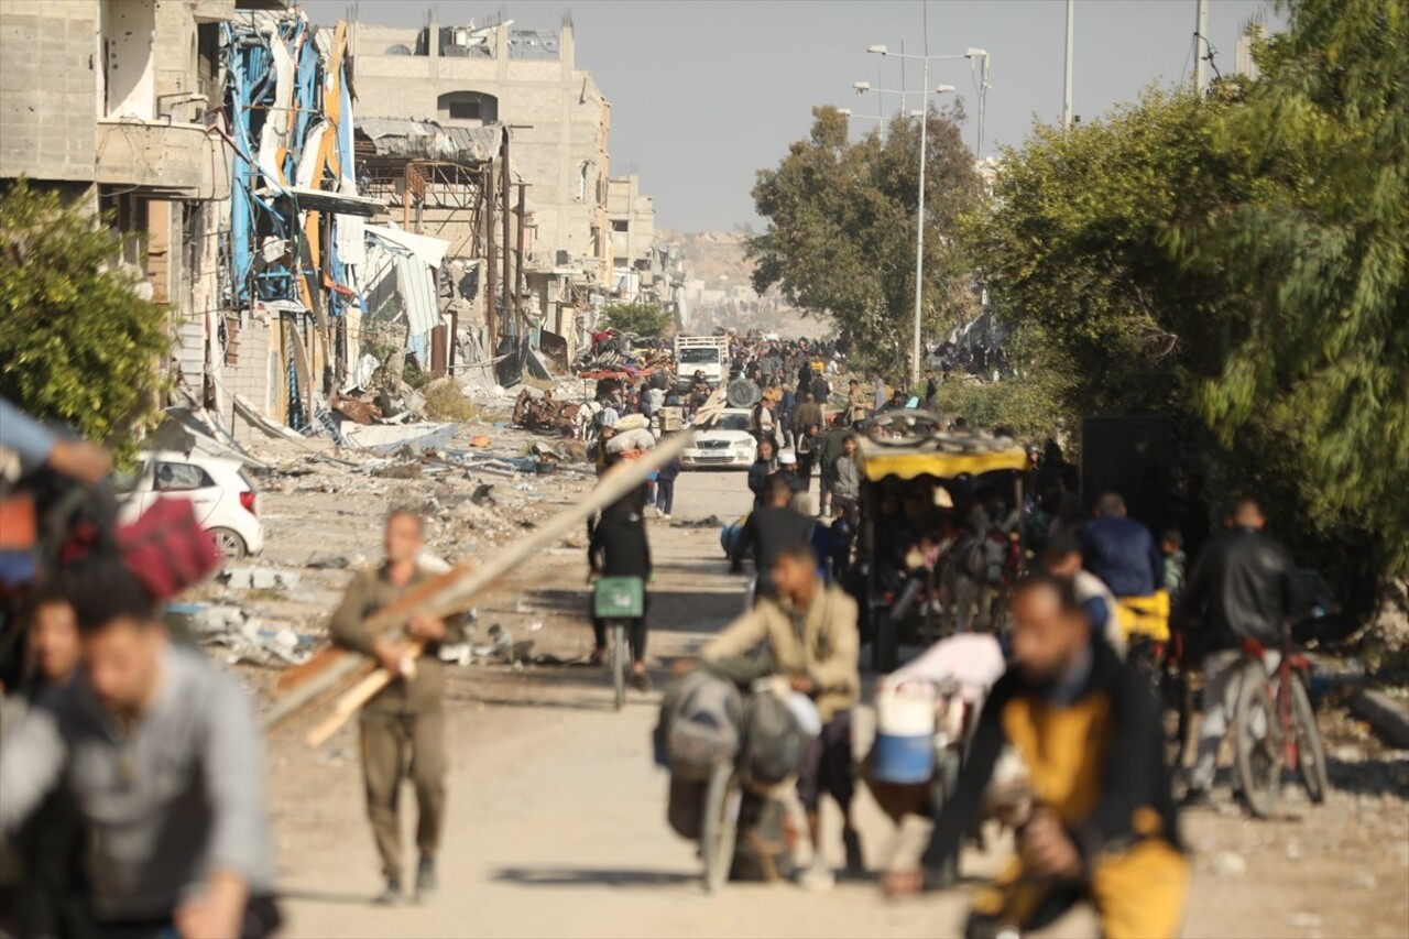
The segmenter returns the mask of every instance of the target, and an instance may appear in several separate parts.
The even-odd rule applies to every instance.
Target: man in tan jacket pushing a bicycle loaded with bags
[[[816,856],[802,883],[824,890],[831,885],[833,874],[821,860],[823,791],[830,792],[841,808],[847,869],[859,870],[862,864],[861,840],[851,825],[851,798],[855,794],[851,711],[861,694],[857,602],[840,587],[821,582],[817,556],[805,539],[774,551],[769,579],[775,592],[761,595],[754,609],[726,626],[700,657],[719,661],[766,643],[774,674],[785,675],[793,691],[810,696],[817,705],[823,728],[807,744],[797,775],[797,797],[807,812]]]

